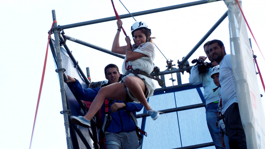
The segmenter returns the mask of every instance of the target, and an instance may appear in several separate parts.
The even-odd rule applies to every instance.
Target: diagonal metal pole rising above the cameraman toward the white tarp
[[[223,16],[213,25],[213,27],[203,36],[203,38],[195,45],[195,47],[185,56],[178,65],[183,65],[191,55],[201,46],[201,44],[212,34],[212,32],[222,23],[222,21],[227,17],[226,11]]]

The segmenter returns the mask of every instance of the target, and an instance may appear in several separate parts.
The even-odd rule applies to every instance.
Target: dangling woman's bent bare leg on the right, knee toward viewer
[[[135,76],[126,76],[123,81],[126,87],[128,87],[128,89],[132,93],[132,95],[141,102],[145,109],[147,111],[151,110],[152,108],[148,104],[144,95],[145,84],[143,80]]]

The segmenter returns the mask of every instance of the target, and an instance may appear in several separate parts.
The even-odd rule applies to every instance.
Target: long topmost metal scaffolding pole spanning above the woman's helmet
[[[215,2],[215,1],[221,1],[221,0],[194,1],[194,2],[185,3],[185,4],[179,4],[179,5],[174,5],[174,6],[168,6],[168,7],[162,7],[162,8],[157,8],[157,9],[151,9],[151,10],[146,10],[146,11],[135,12],[135,13],[131,13],[131,14],[132,14],[132,16],[140,16],[140,15],[145,15],[145,14],[152,14],[152,13],[156,13],[156,12],[162,12],[162,11],[179,9],[179,8],[184,8],[184,7],[189,7],[189,6],[206,4],[206,3],[211,3],[211,2]],[[124,15],[120,15],[120,19],[130,18],[132,16],[130,14],[124,14]],[[58,27],[62,30],[62,29],[69,29],[69,28],[73,28],[73,27],[81,27],[81,26],[85,26],[85,25],[102,23],[102,22],[113,21],[113,20],[116,20],[115,16],[108,17],[108,18],[103,18],[103,19],[85,21],[85,22],[80,22],[80,23],[62,25],[62,26],[58,26]]]

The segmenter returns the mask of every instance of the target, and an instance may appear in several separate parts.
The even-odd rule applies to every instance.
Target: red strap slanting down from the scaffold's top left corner
[[[57,22],[57,21],[55,20],[55,21],[52,22],[52,27],[53,27],[53,24],[55,22]],[[47,49],[46,49],[46,54],[45,54],[44,66],[43,66],[43,70],[42,70],[42,80],[41,80],[41,84],[40,84],[40,87],[39,87],[39,96],[38,96],[38,101],[37,101],[37,107],[36,107],[36,112],[35,112],[35,118],[34,118],[34,123],[33,123],[33,128],[32,128],[32,134],[31,134],[31,140],[30,140],[29,148],[31,147],[32,136],[33,136],[34,126],[35,126],[35,122],[36,122],[38,107],[39,107],[39,99],[40,99],[40,95],[42,93],[42,84],[43,84],[44,74],[45,74],[45,69],[46,69],[46,62],[47,62],[47,55],[48,55],[50,38],[51,38],[51,30],[49,31],[48,44],[47,44]]]

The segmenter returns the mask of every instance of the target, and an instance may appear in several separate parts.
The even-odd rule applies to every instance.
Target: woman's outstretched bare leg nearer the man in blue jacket
[[[113,83],[106,87],[102,87],[97,93],[97,96],[93,100],[84,118],[90,121],[92,117],[100,109],[106,98],[113,100],[126,100],[126,96],[127,96],[126,90],[122,83]]]

